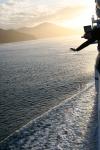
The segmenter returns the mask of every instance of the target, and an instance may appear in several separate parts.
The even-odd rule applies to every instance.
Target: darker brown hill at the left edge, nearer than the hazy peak
[[[26,40],[34,40],[35,36],[21,33],[15,30],[0,29],[0,43],[18,42]]]

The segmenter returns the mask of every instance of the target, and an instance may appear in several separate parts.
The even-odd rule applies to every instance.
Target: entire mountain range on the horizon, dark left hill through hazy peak
[[[17,30],[0,29],[0,43],[69,36],[76,33],[77,31],[71,28],[64,28],[53,23],[44,22],[35,27],[25,27]]]

